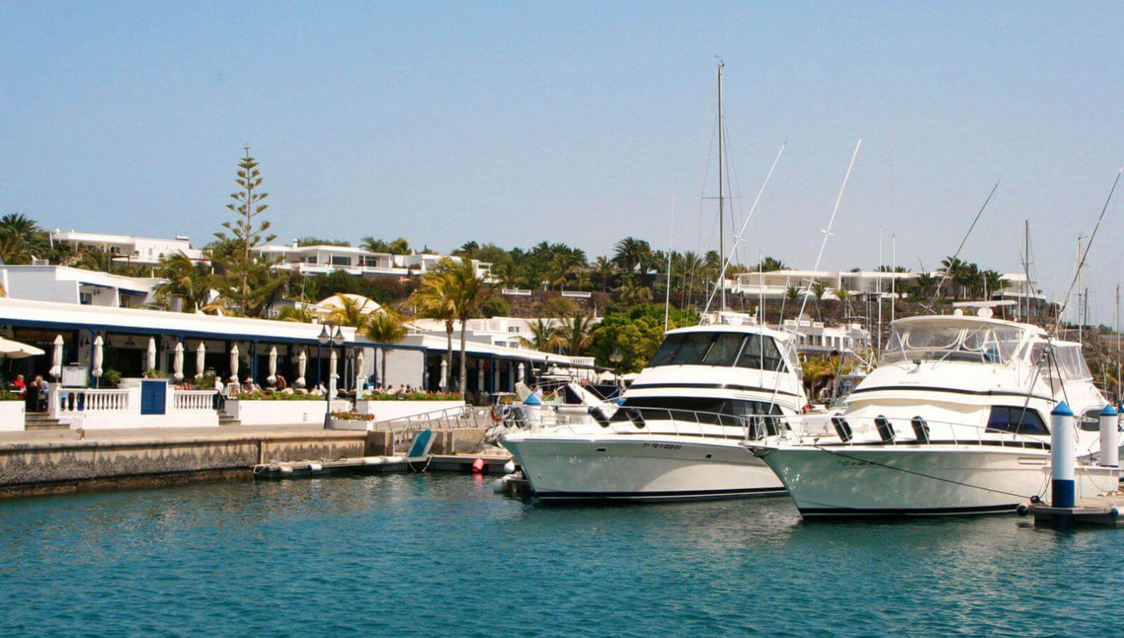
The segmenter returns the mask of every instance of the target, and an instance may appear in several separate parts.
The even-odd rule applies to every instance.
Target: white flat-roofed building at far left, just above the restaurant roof
[[[0,266],[0,286],[8,297],[33,302],[138,308],[155,302],[155,289],[163,282],[65,266]]]

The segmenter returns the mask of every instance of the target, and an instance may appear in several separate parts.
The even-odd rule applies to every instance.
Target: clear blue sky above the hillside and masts
[[[877,263],[891,176],[914,270],[955,250],[999,179],[963,257],[1017,270],[1030,218],[1061,294],[1124,163],[1122,9],[984,5],[8,2],[0,212],[206,243],[248,143],[282,239],[595,255],[628,234],[664,246],[674,205],[674,248],[705,249],[717,54],[746,207],[789,143],[750,260],[761,243],[812,267],[862,136],[824,267]],[[1090,255],[1103,321],[1122,214]]]

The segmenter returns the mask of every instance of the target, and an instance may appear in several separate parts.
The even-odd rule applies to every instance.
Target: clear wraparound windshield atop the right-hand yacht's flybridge
[[[1009,325],[906,323],[890,333],[881,362],[922,360],[1006,365],[1022,339],[1023,330]]]

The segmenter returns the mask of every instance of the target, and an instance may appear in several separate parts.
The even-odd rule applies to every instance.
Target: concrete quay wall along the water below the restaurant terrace
[[[434,432],[429,470],[469,471],[483,431]],[[255,468],[319,466],[339,471],[400,471],[391,432],[324,430],[320,424],[160,428],[0,433],[0,497],[120,489],[208,479],[251,479]],[[486,459],[499,473],[507,458]],[[329,469],[325,470],[327,467]]]

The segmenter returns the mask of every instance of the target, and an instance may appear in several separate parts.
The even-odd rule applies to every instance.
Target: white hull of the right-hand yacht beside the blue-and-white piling
[[[760,450],[805,518],[991,514],[1049,493],[1049,451],[794,447]],[[1079,468],[1078,495],[1104,493],[1107,468]]]

